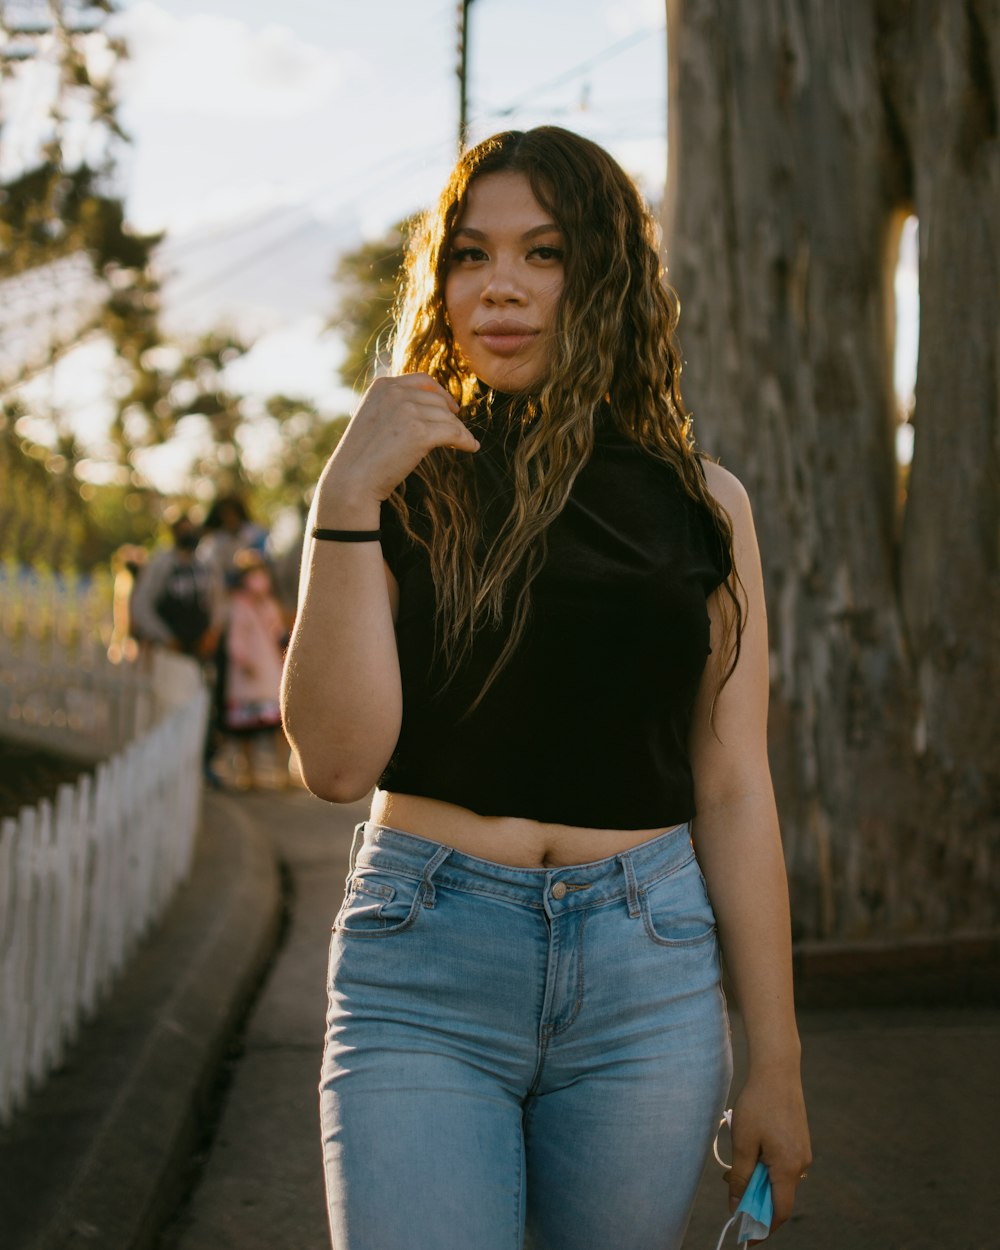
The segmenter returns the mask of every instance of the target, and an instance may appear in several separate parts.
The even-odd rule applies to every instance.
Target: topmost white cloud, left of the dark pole
[[[285,26],[214,14],[175,18],[152,0],[122,10],[129,42],[120,86],[131,109],[231,119],[289,119],[321,108],[344,65]]]

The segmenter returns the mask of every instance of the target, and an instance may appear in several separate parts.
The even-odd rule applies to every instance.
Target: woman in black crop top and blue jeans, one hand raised
[[[315,794],[376,786],[330,955],[336,1248],[679,1246],[731,1072],[716,918],[730,1201],[764,1159],[776,1228],[809,1164],[760,564],[675,325],[611,158],[498,135],[321,475],[285,721]]]

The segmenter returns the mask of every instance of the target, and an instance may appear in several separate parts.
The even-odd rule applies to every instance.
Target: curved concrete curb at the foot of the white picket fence
[[[280,909],[269,836],[235,800],[208,796],[191,879],[66,1065],[0,1136],[5,1250],[151,1246]]]

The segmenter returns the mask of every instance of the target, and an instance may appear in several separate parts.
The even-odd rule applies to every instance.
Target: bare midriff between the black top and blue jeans
[[[608,859],[678,829],[581,829],[518,816],[480,816],[440,799],[376,790],[369,818],[374,824],[454,846],[466,855],[512,868],[565,868]]]

